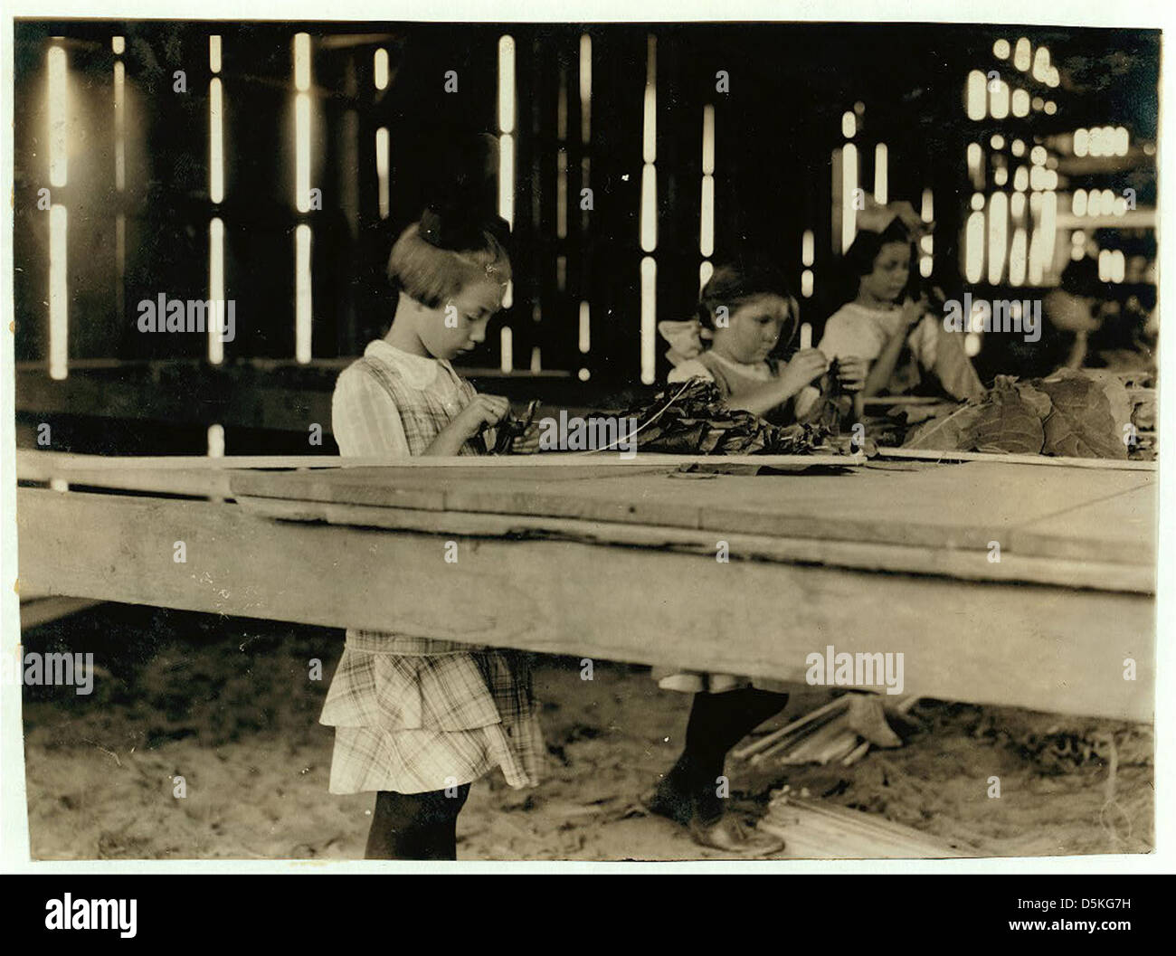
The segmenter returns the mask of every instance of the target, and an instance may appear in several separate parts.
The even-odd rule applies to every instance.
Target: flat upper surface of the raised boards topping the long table
[[[426,473],[350,470],[240,474],[236,494],[353,504],[417,507],[402,499]],[[1143,487],[1151,475],[1023,468],[1000,462],[942,466],[917,473],[854,469],[840,474],[717,475],[609,473],[606,479],[423,482],[443,508],[629,524],[704,528],[731,534],[868,541],[911,547],[1013,547],[1011,530],[1085,502]],[[1065,555],[1058,555],[1064,557]],[[1151,555],[1134,559],[1150,563]]]

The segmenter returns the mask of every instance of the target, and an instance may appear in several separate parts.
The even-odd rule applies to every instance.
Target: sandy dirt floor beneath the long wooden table
[[[362,856],[373,798],[327,793],[332,729],[318,722],[341,631],[105,604],[24,641],[26,651],[92,651],[99,668],[91,696],[25,689],[34,857]],[[308,677],[312,658],[322,680]],[[717,857],[635,801],[676,758],[689,696],[661,690],[646,668],[597,662],[582,681],[579,661],[536,664],[549,776],[526,791],[501,775],[475,784],[459,857]],[[760,733],[827,698],[799,687]],[[733,808],[755,817],[787,784],[982,855],[1152,848],[1150,728],[937,701],[913,714],[921,727],[902,749],[850,768],[729,761]],[[993,776],[1000,798],[988,795]]]

